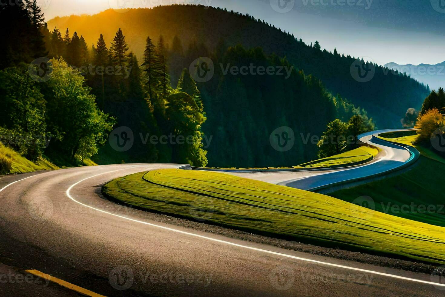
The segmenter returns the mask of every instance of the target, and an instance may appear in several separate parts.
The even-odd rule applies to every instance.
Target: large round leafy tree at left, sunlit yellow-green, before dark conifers
[[[53,72],[42,92],[47,100],[47,124],[54,143],[49,155],[69,161],[97,153],[114,120],[98,110],[85,78],[63,59],[53,59]]]

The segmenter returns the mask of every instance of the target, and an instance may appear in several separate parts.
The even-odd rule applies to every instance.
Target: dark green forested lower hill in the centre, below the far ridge
[[[316,159],[316,142],[309,139],[320,136],[328,122],[348,121],[354,114],[366,118],[364,110],[338,95],[334,98],[318,78],[292,68],[286,59],[267,56],[261,48],[237,45],[221,53],[202,54],[211,57],[214,65],[291,69],[289,77],[227,75],[216,66],[213,78],[199,84],[207,117],[202,130],[213,137],[206,148],[212,166],[279,167]],[[276,151],[269,142],[271,132],[281,126],[291,127],[295,134],[289,151]]]

